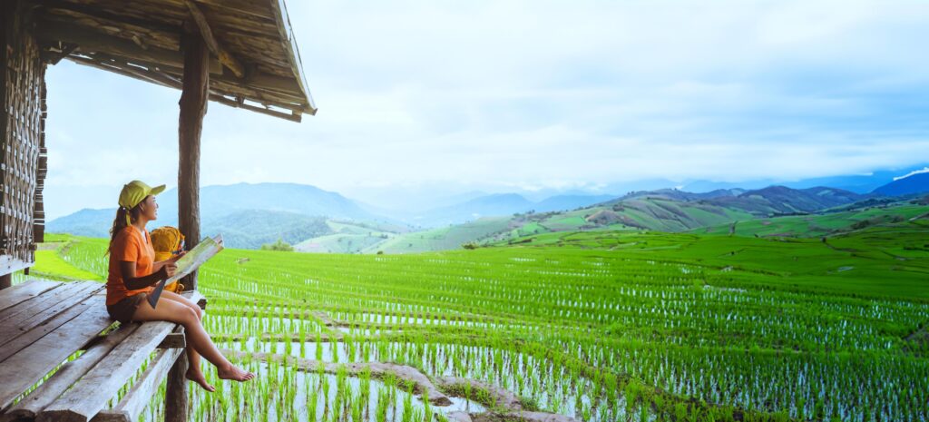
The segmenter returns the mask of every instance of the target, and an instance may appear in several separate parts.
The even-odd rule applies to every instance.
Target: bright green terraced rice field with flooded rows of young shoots
[[[204,364],[218,391],[191,388],[193,420],[929,419],[925,248],[556,234],[411,255],[223,251],[200,273],[203,323],[259,376]],[[74,268],[105,274],[105,240],[59,240]]]

